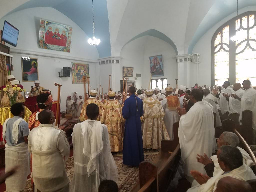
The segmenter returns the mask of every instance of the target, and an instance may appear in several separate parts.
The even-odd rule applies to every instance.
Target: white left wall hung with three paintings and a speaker
[[[38,36],[40,19],[47,19],[57,23],[62,23],[73,27],[72,41],[70,53],[61,51],[52,51],[38,48]],[[63,67],[71,67],[71,62],[89,64],[90,86],[92,89],[99,87],[99,54],[95,47],[90,46],[87,42],[88,36],[79,28],[72,20],[53,8],[30,8],[25,9],[0,20],[0,29],[3,28],[4,20],[18,28],[19,38],[17,48],[11,48],[11,54],[14,55],[12,75],[21,81],[21,84],[28,91],[31,86],[35,86],[33,82],[22,82],[22,64],[21,57],[27,56],[38,58],[38,71],[41,86],[50,89],[53,97],[57,100],[58,89],[54,83],[60,83],[61,87],[61,110],[66,110],[66,99],[73,92],[78,94],[84,93],[82,84],[72,84],[72,77],[58,78],[58,72]],[[20,53],[19,53],[20,52]],[[57,61],[57,62],[56,62]],[[87,90],[88,91],[88,90]]]

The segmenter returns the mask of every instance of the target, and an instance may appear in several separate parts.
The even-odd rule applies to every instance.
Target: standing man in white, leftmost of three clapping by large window
[[[230,82],[225,81],[223,84],[224,90],[220,94],[220,110],[222,113],[222,121],[228,119],[228,100],[225,95],[231,95],[234,93],[233,89],[230,87]]]

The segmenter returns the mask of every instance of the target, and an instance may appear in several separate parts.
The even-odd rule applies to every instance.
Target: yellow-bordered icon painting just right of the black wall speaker
[[[72,83],[73,84],[83,83],[83,81],[82,81],[83,76],[90,77],[88,64],[72,63],[71,62],[71,69],[72,69]],[[87,83],[87,80],[88,79],[86,79],[86,83]]]

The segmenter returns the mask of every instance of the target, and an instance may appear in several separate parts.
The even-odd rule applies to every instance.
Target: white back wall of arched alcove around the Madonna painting
[[[139,73],[141,77],[136,80],[137,89],[141,89],[141,87],[148,89],[151,75],[149,57],[155,55],[163,55],[164,76],[158,78],[167,78],[170,86],[174,87],[176,85],[174,79],[178,77],[177,63],[174,59],[176,56],[175,50],[170,44],[152,36],[135,39],[122,48],[120,57],[123,57],[123,59],[121,60],[120,74],[122,74],[123,67],[134,67],[133,77],[130,77],[129,80],[134,81],[136,73]]]

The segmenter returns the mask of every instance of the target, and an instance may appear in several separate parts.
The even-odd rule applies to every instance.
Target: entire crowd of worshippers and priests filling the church
[[[6,88],[10,91],[22,87],[13,75],[7,79]],[[6,178],[7,191],[23,191],[30,173],[38,191],[98,191],[101,185],[107,191],[118,191],[113,154],[123,154],[124,166],[138,167],[144,161],[143,150],[161,150],[162,141],[175,138],[179,140],[181,158],[173,180],[177,173],[185,178],[191,184],[187,191],[230,191],[229,185],[239,191],[251,191],[246,181],[256,179],[255,162],[247,150],[239,147],[241,138],[232,131],[222,132],[218,139],[215,134],[216,127],[222,127],[226,120],[242,124],[243,111],[251,111],[254,117],[256,90],[249,80],[242,85],[226,81],[222,86],[208,88],[196,84],[191,88],[181,85],[178,89],[136,90],[131,86],[128,93],[110,90],[100,95],[91,89],[85,97],[74,92],[67,97],[64,112],[79,118],[71,131],[71,181],[65,170],[70,155],[70,130],[58,127],[51,111],[51,93],[40,81],[34,83],[35,88],[27,95],[36,98],[38,111],[29,116],[28,123],[23,119],[27,113],[26,96],[21,92],[10,107],[13,118],[3,125],[6,173],[14,172]],[[7,107],[8,100],[5,93],[1,106]],[[255,150],[254,118],[251,138],[250,147]]]

